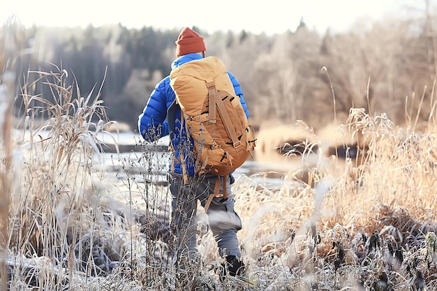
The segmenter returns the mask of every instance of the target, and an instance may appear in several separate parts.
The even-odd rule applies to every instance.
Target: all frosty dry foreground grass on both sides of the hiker
[[[306,169],[311,179],[290,171],[276,188],[242,174],[233,193],[247,274],[221,281],[201,208],[201,260],[175,269],[171,197],[159,179],[168,154],[138,141],[139,151],[102,167],[97,136],[114,122],[98,89],[82,96],[61,68],[31,74],[52,96],[26,84],[24,129],[3,129],[1,140],[9,203],[2,283],[10,290],[434,290],[433,124],[420,133],[353,108],[343,127],[366,140],[360,161],[320,158]]]

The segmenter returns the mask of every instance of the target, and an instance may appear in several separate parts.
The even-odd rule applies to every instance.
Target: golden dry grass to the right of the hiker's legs
[[[269,290],[378,290],[384,281],[417,290],[423,277],[436,290],[435,128],[418,133],[362,109],[344,126],[368,142],[360,163],[337,160],[342,172],[332,173],[320,160],[313,184],[286,178],[274,192],[239,180],[249,277]]]

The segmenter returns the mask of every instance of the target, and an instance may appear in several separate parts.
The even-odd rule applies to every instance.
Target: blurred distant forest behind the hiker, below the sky
[[[251,123],[320,128],[346,121],[350,107],[387,113],[399,125],[419,114],[418,127],[435,121],[436,17],[357,23],[348,33],[323,35],[304,21],[273,36],[246,31],[206,33],[207,54],[220,57],[242,85]],[[15,114],[24,112],[21,87],[29,71],[66,70],[81,95],[94,95],[104,80],[101,100],[108,117],[136,129],[155,84],[170,73],[178,30],[122,25],[80,28],[23,28],[19,21],[0,31],[1,73],[15,73]],[[0,74],[1,75],[1,74]],[[75,79],[74,79],[75,78]],[[75,81],[76,80],[76,81]],[[50,98],[42,83],[27,88]]]

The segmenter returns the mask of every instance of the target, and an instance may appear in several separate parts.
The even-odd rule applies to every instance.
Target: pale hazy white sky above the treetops
[[[431,5],[437,0],[429,0]],[[6,2],[6,3],[4,3]],[[281,33],[294,29],[301,17],[323,32],[348,29],[357,19],[424,13],[425,0],[3,0],[0,22],[16,15],[25,26],[86,27],[121,23],[126,27],[180,28],[193,25],[217,30]]]

